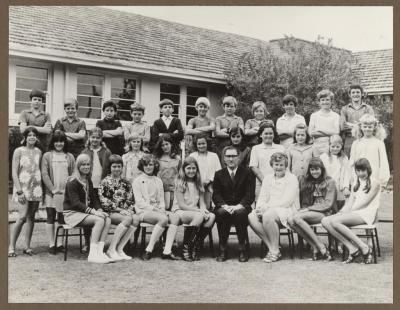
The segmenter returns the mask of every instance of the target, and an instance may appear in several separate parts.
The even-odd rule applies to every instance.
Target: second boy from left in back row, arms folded
[[[77,116],[78,101],[75,98],[68,98],[64,101],[66,116],[57,120],[55,130],[65,132],[68,141],[68,152],[74,155],[75,159],[85,148],[86,124]]]

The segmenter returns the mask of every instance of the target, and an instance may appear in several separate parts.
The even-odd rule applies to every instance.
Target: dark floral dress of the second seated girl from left
[[[123,178],[106,176],[100,184],[99,198],[105,212],[119,212],[117,208],[134,210],[135,200],[131,183]]]

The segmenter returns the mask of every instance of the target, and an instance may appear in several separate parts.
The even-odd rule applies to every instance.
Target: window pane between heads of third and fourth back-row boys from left
[[[136,101],[136,80],[123,77],[112,77],[111,99],[117,103],[117,117],[121,121],[131,121],[130,106]]]

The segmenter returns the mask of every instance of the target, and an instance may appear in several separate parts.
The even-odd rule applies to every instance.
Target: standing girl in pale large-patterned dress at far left
[[[18,203],[19,218],[11,232],[8,257],[16,257],[15,245],[26,222],[24,254],[34,255],[31,239],[35,224],[35,212],[42,201],[42,176],[40,160],[42,152],[37,148],[39,132],[27,127],[23,133],[22,146],[14,151],[12,158],[12,178],[14,183],[13,201]]]

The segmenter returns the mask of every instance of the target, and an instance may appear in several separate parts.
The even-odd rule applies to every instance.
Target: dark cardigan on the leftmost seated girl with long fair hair
[[[88,178],[89,185],[89,205],[86,205],[86,192],[83,184],[76,178],[67,182],[65,187],[64,211],[90,213],[93,209],[100,209],[100,199],[97,190],[93,189],[93,183]]]

